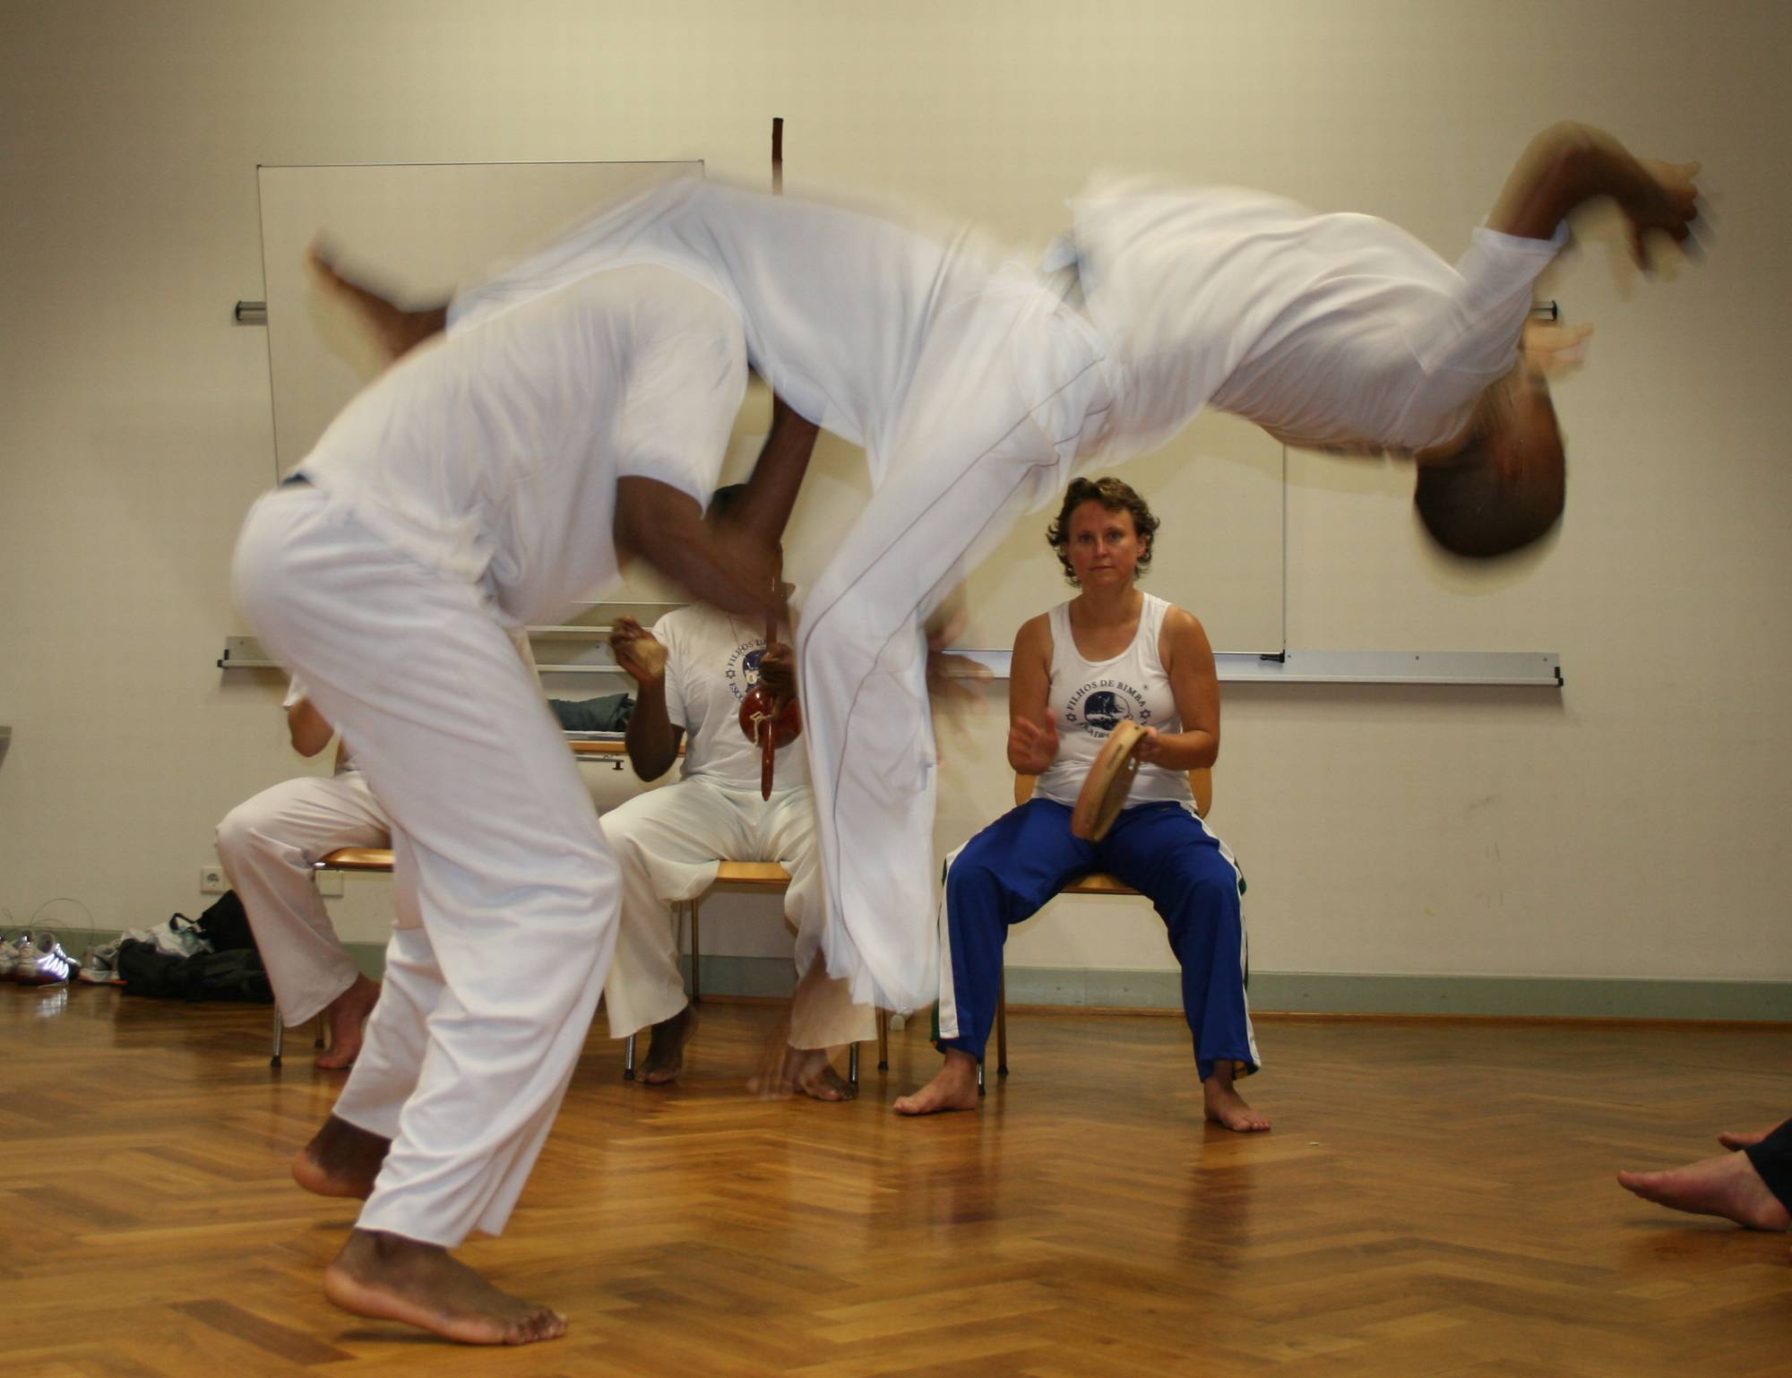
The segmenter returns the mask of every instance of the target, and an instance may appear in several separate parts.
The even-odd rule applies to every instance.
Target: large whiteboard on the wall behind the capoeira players
[[[383,366],[353,315],[312,283],[305,251],[314,240],[387,296],[437,305],[457,283],[516,258],[595,204],[652,179],[701,174],[702,163],[367,163],[258,172],[278,477],[299,464]],[[1061,228],[1041,224],[1039,235]],[[751,473],[769,421],[769,398],[754,383],[735,425],[724,482]],[[1279,652],[1281,446],[1213,414],[1115,473],[1163,518],[1145,588],[1199,615],[1217,650]],[[799,590],[831,557],[867,496],[864,455],[824,435],[785,539],[787,577]],[[961,647],[1005,649],[1021,622],[1073,593],[1045,547],[1052,516],[1055,502],[1021,516],[969,575]],[[625,573],[606,602],[681,599],[650,570]]]

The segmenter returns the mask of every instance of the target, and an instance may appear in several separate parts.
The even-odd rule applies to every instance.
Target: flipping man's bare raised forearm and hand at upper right
[[[1699,215],[1697,174],[1697,163],[1636,158],[1604,129],[1555,124],[1530,140],[1505,179],[1487,228],[1546,240],[1575,206],[1611,197],[1631,222],[1631,253],[1638,267],[1647,269],[1649,233],[1659,231],[1676,244],[1692,237]]]

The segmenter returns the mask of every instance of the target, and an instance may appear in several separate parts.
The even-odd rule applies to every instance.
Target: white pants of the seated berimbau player
[[[821,950],[821,851],[806,787],[760,797],[756,787],[728,788],[692,776],[649,790],[602,817],[622,867],[622,928],[604,986],[609,1036],[627,1038],[685,1009],[672,903],[715,883],[720,862],[780,862],[790,873],[785,919],[796,930],[797,978]],[[790,1007],[792,1048],[833,1048],[876,1034],[871,1005],[855,1005],[848,982],[799,986]]]

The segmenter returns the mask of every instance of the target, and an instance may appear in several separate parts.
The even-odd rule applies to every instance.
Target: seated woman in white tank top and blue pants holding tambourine
[[[1238,867],[1201,821],[1188,783],[1190,771],[1219,756],[1213,650],[1192,613],[1136,588],[1156,530],[1158,518],[1127,484],[1077,478],[1047,532],[1081,591],[1014,638],[1009,765],[1039,781],[1027,803],[946,860],[946,1064],[896,1102],[903,1115],[977,1106],[1009,926],[1077,876],[1106,871],[1147,896],[1168,926],[1208,1118],[1242,1133],[1269,1129],[1233,1086],[1258,1068]]]

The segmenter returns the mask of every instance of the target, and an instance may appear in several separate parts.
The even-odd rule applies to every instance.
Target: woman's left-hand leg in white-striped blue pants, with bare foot
[[[939,1050],[946,1066],[901,1115],[977,1107],[977,1063],[995,1023],[1002,946],[1011,925],[1039,912],[1072,878],[1095,869],[1095,849],[1070,835],[1070,806],[1030,799],[946,860],[939,907]]]

